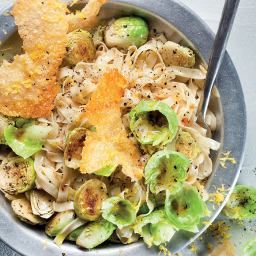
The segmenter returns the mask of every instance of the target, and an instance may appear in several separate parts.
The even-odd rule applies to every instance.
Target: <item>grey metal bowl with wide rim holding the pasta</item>
[[[84,2],[72,6],[72,10],[83,8]],[[12,5],[7,6],[0,13],[0,31],[5,29],[6,35],[0,33],[1,48],[12,46],[13,49],[3,51],[1,59],[11,60],[14,54],[21,52],[21,40],[14,26],[12,16],[4,16],[4,12],[12,10]],[[207,62],[211,55],[214,43],[214,34],[200,17],[193,13],[188,7],[177,0],[118,0],[111,1],[102,6],[100,17],[120,17],[125,15],[138,15],[147,20],[150,28],[157,31],[164,31],[169,40],[191,47],[196,53],[196,65],[202,64],[207,67]],[[8,23],[8,25],[6,25]],[[1,61],[0,59],[0,61]],[[212,185],[220,187],[225,184],[225,188],[234,188],[239,175],[244,156],[244,143],[246,137],[246,109],[244,104],[243,90],[236,68],[234,67],[227,52],[220,68],[220,74],[216,81],[220,97],[212,95],[209,108],[217,116],[218,125],[213,134],[214,140],[220,141],[221,148],[218,152],[211,152],[213,172],[206,188],[209,193],[214,191]],[[217,93],[218,94],[218,93]],[[227,169],[221,168],[219,158],[222,151],[232,151],[232,157],[236,158],[237,163],[227,163]],[[227,196],[228,197],[228,196]],[[227,198],[226,198],[227,200]],[[225,201],[226,201],[225,200]],[[13,250],[22,255],[120,255],[121,249],[124,255],[157,255],[157,247],[148,246],[139,241],[129,245],[104,243],[94,250],[84,250],[74,243],[65,242],[58,248],[52,239],[47,237],[42,227],[32,227],[22,223],[12,211],[10,202],[0,196],[0,237]],[[212,211],[213,221],[220,213],[223,205],[216,207],[212,211],[211,203],[207,202]],[[191,239],[198,237],[207,227],[200,226],[197,234],[180,230],[173,236],[167,248],[171,253],[176,253],[184,246],[191,243]],[[48,239],[46,250],[43,250],[45,240]]]

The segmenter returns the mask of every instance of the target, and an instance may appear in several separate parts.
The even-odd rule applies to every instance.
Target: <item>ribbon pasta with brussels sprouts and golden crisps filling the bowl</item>
[[[209,214],[220,143],[196,124],[206,71],[141,17],[97,19],[104,3],[15,3],[24,53],[0,67],[0,188],[58,246],[159,246]]]

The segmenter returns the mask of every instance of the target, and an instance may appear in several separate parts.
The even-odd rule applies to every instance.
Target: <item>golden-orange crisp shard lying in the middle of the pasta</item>
[[[85,106],[84,116],[95,125],[96,132],[88,132],[81,154],[80,170],[92,173],[104,166],[122,165],[122,172],[132,180],[143,175],[140,154],[125,132],[120,102],[127,83],[113,69],[100,80],[92,99]]]

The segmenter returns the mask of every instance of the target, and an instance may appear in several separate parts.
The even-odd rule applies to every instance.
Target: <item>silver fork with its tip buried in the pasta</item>
[[[211,138],[211,129],[205,122],[205,115],[211,97],[212,88],[220,70],[221,61],[226,51],[228,36],[236,16],[240,0],[226,0],[221,14],[218,32],[212,48],[211,58],[205,77],[204,90],[196,112],[196,123],[206,129],[206,136]]]

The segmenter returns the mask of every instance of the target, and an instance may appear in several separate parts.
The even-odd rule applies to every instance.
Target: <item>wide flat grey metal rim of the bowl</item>
[[[68,1],[66,1],[68,2]],[[70,2],[70,1],[69,1]],[[86,2],[86,1],[84,1]],[[180,3],[179,0],[162,0],[159,1],[156,5],[156,1],[154,0],[117,0],[113,1],[110,0],[110,3],[120,3],[120,4],[128,4],[132,6],[136,6],[138,8],[141,8],[147,12],[154,13],[155,15],[161,17],[162,19],[170,22],[175,28],[179,29],[179,31],[186,36],[186,38],[189,39],[190,42],[192,42],[193,45],[195,45],[195,48],[202,57],[204,58],[207,63],[209,62],[209,58],[211,56],[211,49],[212,45],[214,44],[214,33],[212,30],[205,24],[204,20],[202,20],[195,12],[193,12],[188,6],[186,6],[183,3]],[[166,9],[166,6],[172,6],[172,13],[173,16],[170,17],[168,15],[168,10]],[[1,22],[1,20],[6,19],[6,17],[3,17],[2,15],[4,12],[10,12],[12,10],[13,4],[9,4],[2,10],[0,10],[0,30],[3,27],[3,29],[6,30],[6,35],[0,35],[0,41],[4,40],[4,38],[7,38],[8,35],[12,34],[13,31],[15,31],[15,26],[4,26],[5,22]],[[182,14],[180,14],[182,13]],[[179,17],[181,15],[181,18]],[[11,20],[10,23],[13,23],[13,17],[8,16],[8,18]],[[182,22],[180,22],[182,20]],[[8,22],[9,23],[9,22]],[[9,23],[9,24],[10,24]],[[227,52],[225,52],[225,56],[223,58],[223,62],[221,64],[220,68],[220,74],[218,75],[218,78],[216,80],[216,83],[218,84],[218,91],[221,95],[221,106],[223,108],[223,116],[224,116],[224,138],[223,138],[223,145],[220,150],[232,150],[232,157],[235,157],[237,164],[233,165],[228,163],[227,169],[223,169],[223,173],[221,179],[225,180],[225,178],[228,179],[227,174],[229,173],[232,175],[232,182],[230,182],[230,191],[228,191],[228,195],[226,196],[224,202],[220,205],[220,207],[214,212],[214,214],[211,216],[210,221],[212,222],[216,216],[220,213],[221,209],[225,205],[225,203],[228,200],[228,197],[236,185],[236,181],[239,176],[239,172],[241,170],[241,166],[243,164],[243,158],[244,158],[244,150],[245,150],[245,141],[246,141],[246,106],[244,101],[244,95],[243,95],[243,89],[241,86],[241,82],[239,80],[238,74],[236,72],[236,68],[234,67],[234,64],[232,63],[232,60]],[[227,85],[232,85],[232,87],[228,87]],[[235,127],[235,129],[234,129]],[[219,166],[220,168],[220,166]],[[214,174],[213,179],[217,179],[216,175]],[[211,192],[212,188],[210,188]],[[0,228],[0,239],[3,241],[4,244],[10,246],[15,252],[18,252],[22,255],[31,255],[29,253],[33,252],[36,253],[36,255],[47,255],[49,252],[54,253],[61,253],[61,251],[66,250],[66,246],[64,247],[64,250],[59,250],[54,244],[53,248],[51,246],[51,251],[48,252],[48,250],[43,251],[38,244],[36,245],[36,238],[35,241],[29,241],[29,243],[23,244],[23,246],[20,246],[20,243],[13,243],[12,237],[17,235],[17,232],[22,230],[20,227],[22,225],[19,225],[19,227],[15,226],[15,223],[10,223],[10,219],[7,218],[6,215],[3,214],[3,212],[0,209],[0,218],[2,218],[1,228]],[[11,221],[12,222],[12,221]],[[12,229],[10,230],[10,227]],[[196,237],[200,236],[202,232],[205,231],[207,226],[204,226],[200,229],[198,233],[195,234],[195,236],[191,236],[192,239],[196,239]],[[23,238],[28,237],[28,240],[31,240],[31,234],[26,234],[23,231]],[[8,234],[6,236],[6,234]],[[29,232],[30,233],[30,232]],[[34,242],[34,243],[33,243]],[[181,250],[185,246],[187,246],[191,241],[188,239],[188,241],[179,248]],[[145,252],[147,255],[153,255],[153,253],[156,252],[156,248],[152,248],[153,250],[147,250],[147,246],[142,243],[135,243],[130,244],[129,246],[122,245],[123,252],[125,255],[134,255],[134,253],[138,253],[138,250],[141,250],[141,253]],[[29,248],[29,246],[30,248]],[[40,248],[38,248],[40,247]],[[48,246],[47,246],[48,247]],[[50,246],[49,246],[50,247]],[[120,246],[121,248],[121,246]],[[58,251],[57,251],[57,250]],[[110,249],[110,250],[109,250]],[[107,248],[107,249],[99,249],[99,250],[92,250],[90,253],[84,252],[81,250],[81,253],[74,251],[74,254],[78,255],[108,255],[111,253],[111,255],[120,255],[120,252],[118,249],[114,248]],[[175,251],[172,251],[172,253],[175,253]],[[178,250],[178,251],[179,251]],[[68,255],[71,251],[68,251]],[[152,253],[150,253],[152,252]]]

